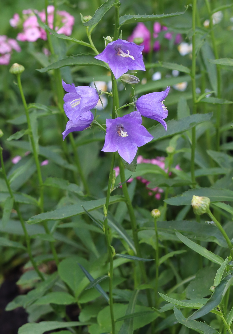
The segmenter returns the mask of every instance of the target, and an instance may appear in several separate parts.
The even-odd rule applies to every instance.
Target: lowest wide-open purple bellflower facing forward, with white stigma
[[[142,116],[134,111],[123,117],[106,119],[106,136],[103,152],[116,152],[129,164],[134,160],[138,147],[154,137],[142,125]]]

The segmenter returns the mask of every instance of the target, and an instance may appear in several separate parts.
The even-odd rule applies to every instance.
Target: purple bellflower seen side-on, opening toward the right
[[[164,100],[168,96],[170,86],[164,92],[155,92],[141,96],[136,102],[136,108],[142,116],[152,118],[160,122],[167,131],[167,124],[164,121],[168,116]]]

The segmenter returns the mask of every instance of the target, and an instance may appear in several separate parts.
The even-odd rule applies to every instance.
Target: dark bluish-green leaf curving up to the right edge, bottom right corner
[[[227,292],[228,288],[231,286],[233,282],[233,273],[228,274],[224,277],[224,279],[219,283],[217,287],[215,287],[215,290],[208,300],[208,302],[198,311],[194,312],[188,320],[195,320],[197,318],[200,318],[204,316],[205,314],[209,313],[213,308],[218,306],[223,297],[225,296],[225,293]]]

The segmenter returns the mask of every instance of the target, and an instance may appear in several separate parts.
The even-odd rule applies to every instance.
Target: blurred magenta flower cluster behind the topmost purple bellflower
[[[153,33],[153,37],[154,38],[158,38],[159,37],[159,33],[161,31],[167,31],[168,27],[166,26],[162,26],[159,22],[155,22],[154,23],[154,33]],[[168,40],[171,40],[173,37],[173,33],[172,32],[166,32],[164,37]],[[137,24],[137,26],[134,28],[132,35],[130,35],[128,37],[128,41],[129,42],[133,42],[135,38],[142,38],[143,42],[140,45],[144,45],[144,50],[143,52],[148,53],[150,52],[151,49],[151,33],[148,30],[148,28],[145,26],[144,23],[139,22]],[[179,44],[182,41],[182,36],[181,34],[177,34],[175,37],[175,44]],[[154,45],[153,45],[153,50],[154,51],[159,51],[160,50],[160,42],[159,40],[155,40]]]

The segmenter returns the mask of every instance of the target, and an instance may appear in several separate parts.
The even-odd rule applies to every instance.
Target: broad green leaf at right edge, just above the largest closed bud
[[[233,201],[233,191],[221,188],[199,188],[189,189],[182,195],[177,195],[166,199],[165,202],[170,205],[189,205],[193,195],[209,197],[211,202]]]

